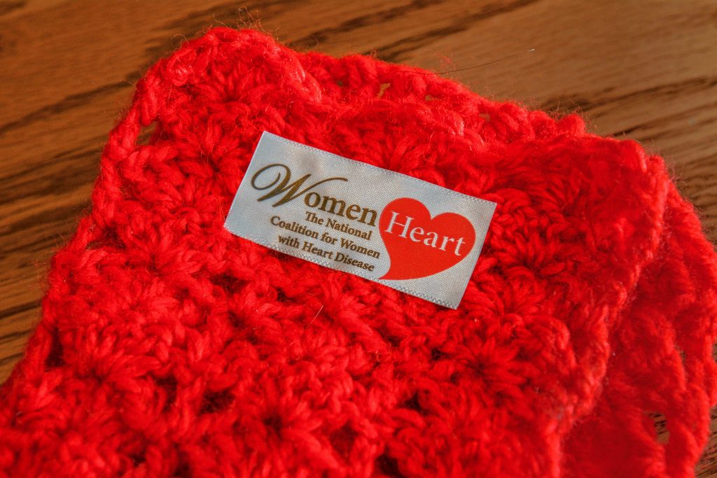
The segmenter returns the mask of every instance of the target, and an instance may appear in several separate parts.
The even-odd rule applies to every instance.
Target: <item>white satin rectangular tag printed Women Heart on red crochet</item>
[[[455,309],[495,203],[264,132],[224,227]]]

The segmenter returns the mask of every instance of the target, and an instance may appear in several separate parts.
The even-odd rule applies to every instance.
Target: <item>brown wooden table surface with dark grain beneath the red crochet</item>
[[[594,132],[660,152],[717,238],[713,0],[0,1],[0,383],[133,84],[202,29],[257,19],[296,49],[375,52],[481,95],[580,111]],[[697,472],[717,476],[717,439]]]

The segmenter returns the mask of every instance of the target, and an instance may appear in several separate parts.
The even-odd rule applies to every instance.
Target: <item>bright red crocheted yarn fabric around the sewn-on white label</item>
[[[263,130],[497,203],[460,307],[226,231]],[[717,399],[717,259],[660,157],[251,30],[137,83],[48,287],[4,477],[687,477]]]

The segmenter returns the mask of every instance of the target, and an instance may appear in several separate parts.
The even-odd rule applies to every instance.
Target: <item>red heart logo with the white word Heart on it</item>
[[[421,201],[391,201],[379,219],[381,238],[391,267],[381,279],[417,279],[455,266],[473,249],[473,224],[460,214],[445,212],[431,219]]]

